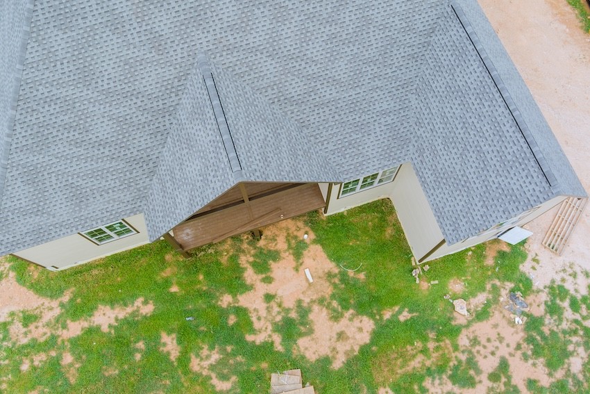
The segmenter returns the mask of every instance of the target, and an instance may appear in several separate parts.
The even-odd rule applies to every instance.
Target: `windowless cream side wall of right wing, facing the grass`
[[[444,240],[439,224],[410,163],[401,166],[391,190],[407,243],[420,260]]]

